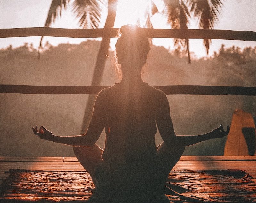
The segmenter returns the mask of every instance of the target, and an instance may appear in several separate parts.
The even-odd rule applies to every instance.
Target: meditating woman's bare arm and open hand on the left
[[[62,143],[66,145],[72,145],[77,147],[91,147],[95,144],[95,142],[99,139],[100,134],[104,128],[105,119],[106,119],[106,111],[104,107],[105,99],[105,89],[100,91],[98,94],[92,119],[89,124],[89,127],[85,133],[85,135],[76,135],[76,136],[56,136],[52,134],[51,131],[41,126],[39,132],[37,130],[37,126],[32,128],[35,135],[44,140],[49,140],[56,143]]]

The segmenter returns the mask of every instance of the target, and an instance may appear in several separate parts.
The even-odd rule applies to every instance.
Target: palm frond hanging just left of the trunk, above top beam
[[[83,28],[98,28],[102,13],[102,0],[74,0],[73,13]]]

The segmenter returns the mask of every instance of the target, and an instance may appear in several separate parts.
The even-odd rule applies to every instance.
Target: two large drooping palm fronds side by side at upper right
[[[164,16],[172,29],[188,29],[191,14],[199,19],[200,29],[213,29],[218,21],[223,0],[164,0]],[[207,54],[211,39],[204,39]],[[186,47],[188,63],[191,63],[188,39],[174,39],[174,46]]]

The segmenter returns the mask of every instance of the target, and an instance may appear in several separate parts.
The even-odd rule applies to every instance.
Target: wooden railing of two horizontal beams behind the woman
[[[256,32],[234,30],[198,30],[198,29],[146,29],[149,38],[189,38],[189,39],[225,39],[256,41]],[[0,38],[54,36],[72,38],[116,37],[118,28],[104,29],[62,29],[49,27],[0,29]],[[21,94],[98,94],[107,86],[29,86],[0,85],[0,93]],[[195,95],[256,95],[256,87],[230,86],[195,86],[175,85],[156,86],[165,94],[195,94]]]

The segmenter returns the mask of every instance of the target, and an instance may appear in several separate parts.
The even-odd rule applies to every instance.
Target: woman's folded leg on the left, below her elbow
[[[95,185],[95,170],[96,166],[102,160],[101,155],[103,150],[94,144],[92,147],[73,147],[76,158],[84,169],[92,177],[93,184]]]

